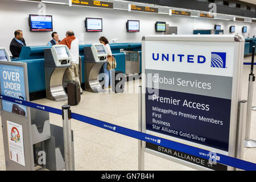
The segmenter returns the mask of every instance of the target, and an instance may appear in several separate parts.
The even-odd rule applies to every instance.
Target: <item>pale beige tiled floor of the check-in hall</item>
[[[250,61],[250,57],[246,58]],[[255,68],[256,69],[256,68]],[[247,100],[247,85],[250,66],[243,67],[242,99]],[[127,82],[126,88],[134,89],[139,80]],[[81,102],[72,106],[72,112],[100,119],[115,125],[138,130],[138,88],[137,93],[97,94],[84,92]],[[256,85],[254,84],[254,90]],[[254,91],[254,93],[256,93]],[[61,109],[67,101],[54,102],[46,99],[34,101],[38,104]],[[256,94],[253,105],[256,106]],[[50,122],[62,125],[60,115],[50,113]],[[138,170],[138,140],[112,131],[72,121],[75,135],[76,170]],[[256,111],[252,113],[251,139],[256,140]],[[2,130],[0,130],[0,170],[5,170]],[[244,159],[256,163],[256,148],[245,148]],[[195,170],[151,154],[145,154],[146,170]]]

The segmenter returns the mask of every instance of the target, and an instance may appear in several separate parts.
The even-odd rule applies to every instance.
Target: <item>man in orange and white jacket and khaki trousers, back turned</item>
[[[69,30],[66,33],[66,38],[64,38],[59,44],[66,45],[71,53],[71,67],[67,70],[67,80],[79,82],[80,93],[82,94],[82,88],[79,80],[79,40],[75,37],[74,32]]]

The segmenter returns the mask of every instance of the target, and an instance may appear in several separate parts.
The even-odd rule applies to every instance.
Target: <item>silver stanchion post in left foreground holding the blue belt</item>
[[[64,137],[64,156],[65,170],[74,171],[72,134],[71,134],[71,110],[69,105],[62,106],[63,137]]]

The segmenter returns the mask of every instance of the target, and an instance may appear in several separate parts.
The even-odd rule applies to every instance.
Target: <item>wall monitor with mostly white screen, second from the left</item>
[[[102,18],[86,18],[86,32],[102,32]]]

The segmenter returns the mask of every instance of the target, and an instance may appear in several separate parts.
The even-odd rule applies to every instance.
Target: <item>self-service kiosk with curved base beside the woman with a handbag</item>
[[[98,74],[104,63],[107,61],[108,52],[104,44],[92,44],[91,47],[84,47],[84,75],[85,90],[89,92],[104,92],[98,80]]]

